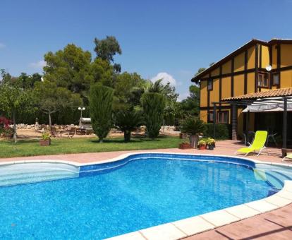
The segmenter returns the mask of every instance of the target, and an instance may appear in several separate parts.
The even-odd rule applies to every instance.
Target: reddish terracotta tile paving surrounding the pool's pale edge
[[[0,162],[20,160],[66,160],[73,162],[96,162],[118,157],[128,152],[178,152],[195,154],[233,155],[243,145],[239,141],[218,141],[217,147],[211,150],[179,150],[177,148],[160,150],[138,150],[118,152],[90,152],[80,154],[45,155],[36,157],[1,158]],[[281,150],[269,148],[269,155],[250,155],[249,158],[267,162],[281,162]],[[250,217],[223,227],[218,227],[186,239],[292,239],[292,204],[272,212]]]

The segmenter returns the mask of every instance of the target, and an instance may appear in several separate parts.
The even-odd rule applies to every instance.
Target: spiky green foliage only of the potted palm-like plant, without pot
[[[195,118],[193,116],[188,116],[186,119],[181,121],[181,132],[188,133],[190,136],[194,136],[205,131],[206,124],[204,121]]]

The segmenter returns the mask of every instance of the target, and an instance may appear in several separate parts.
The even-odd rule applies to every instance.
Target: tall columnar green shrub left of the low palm
[[[94,133],[99,142],[107,137],[111,130],[111,109],[114,90],[106,86],[90,88],[90,117]]]

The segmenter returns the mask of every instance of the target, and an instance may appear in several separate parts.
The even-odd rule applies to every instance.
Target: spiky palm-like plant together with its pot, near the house
[[[181,121],[181,132],[190,135],[190,145],[192,148],[197,148],[199,136],[205,131],[206,124],[194,116],[188,116]]]

